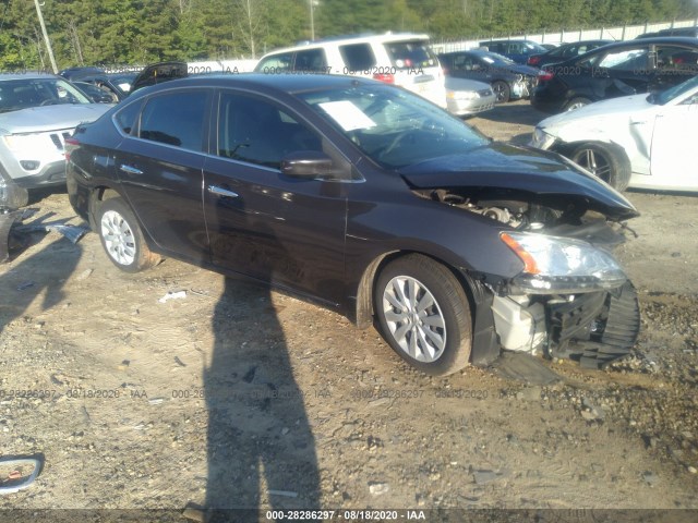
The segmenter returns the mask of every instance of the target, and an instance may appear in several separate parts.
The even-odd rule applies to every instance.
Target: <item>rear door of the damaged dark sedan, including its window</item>
[[[140,118],[139,136],[119,146],[115,169],[131,207],[160,250],[208,262],[202,207],[207,136],[206,90],[154,96]]]

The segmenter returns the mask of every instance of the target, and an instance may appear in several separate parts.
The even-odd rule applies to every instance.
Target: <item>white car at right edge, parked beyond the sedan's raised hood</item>
[[[698,76],[613,98],[535,126],[533,147],[566,156],[617,190],[698,191]]]

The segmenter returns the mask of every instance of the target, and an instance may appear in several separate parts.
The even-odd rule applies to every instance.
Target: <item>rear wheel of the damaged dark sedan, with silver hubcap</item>
[[[117,197],[103,202],[95,221],[101,246],[111,263],[121,270],[139,272],[160,260],[148,248],[137,219],[123,199]]]

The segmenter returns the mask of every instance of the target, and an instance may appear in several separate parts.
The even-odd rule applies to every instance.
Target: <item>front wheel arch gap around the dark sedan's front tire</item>
[[[389,263],[401,258],[402,256],[407,256],[408,254],[420,254],[422,256],[432,258],[434,262],[446,267],[454,275],[454,277],[462,285],[466,292],[466,296],[468,297],[469,302],[468,305],[470,305],[470,315],[472,316],[471,319],[474,321],[476,300],[473,297],[472,289],[473,280],[469,276],[464,275],[461,271],[456,270],[453,266],[448,265],[444,260],[429,254],[420,253],[418,251],[393,251],[389,253],[384,253],[374,258],[361,276],[361,280],[359,281],[359,289],[357,290],[357,311],[354,318],[357,327],[360,329],[368,329],[373,325],[373,293],[375,290],[375,282],[377,281],[378,275],[381,273],[383,268]]]

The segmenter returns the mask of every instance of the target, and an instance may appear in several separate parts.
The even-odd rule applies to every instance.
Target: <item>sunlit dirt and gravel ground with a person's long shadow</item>
[[[530,107],[496,111],[470,123],[524,143]],[[36,236],[0,266],[0,443],[45,466],[0,508],[696,509],[698,206],[627,196],[635,355],[539,360],[559,379],[538,384],[431,378],[293,297],[170,259],[125,275],[95,234]],[[64,194],[37,206],[73,216]]]

